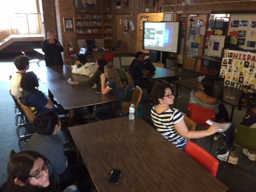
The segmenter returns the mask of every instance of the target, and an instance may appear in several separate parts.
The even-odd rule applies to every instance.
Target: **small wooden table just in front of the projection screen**
[[[124,66],[122,66],[122,68],[124,68],[125,71],[127,72],[128,70],[130,70],[130,65],[124,65]],[[158,66],[155,66],[155,68],[156,68],[155,72],[149,72],[148,75],[145,76],[145,77],[153,80],[153,85],[156,84],[156,80],[158,80],[158,79],[164,79],[164,78],[168,78],[168,77],[177,77],[177,76],[184,75],[183,73],[179,73],[179,72],[172,71],[172,70],[158,67]]]

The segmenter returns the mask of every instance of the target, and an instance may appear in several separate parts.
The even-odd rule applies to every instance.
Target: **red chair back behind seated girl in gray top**
[[[209,127],[206,121],[215,120],[215,111],[206,107],[188,103],[189,118],[202,126]]]

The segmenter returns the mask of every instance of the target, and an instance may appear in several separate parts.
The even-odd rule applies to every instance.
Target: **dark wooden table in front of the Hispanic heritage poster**
[[[173,81],[173,83],[176,84],[176,98],[178,97],[178,86],[182,86],[185,88],[188,88],[190,90],[198,90],[198,87],[200,83],[198,82],[198,78],[190,78],[190,79],[183,79],[183,80],[176,80]],[[232,121],[233,114],[234,114],[234,108],[238,106],[240,95],[242,94],[243,90],[233,88],[230,86],[224,86],[224,98],[223,100],[220,100],[221,102],[224,102],[226,104],[229,104],[232,106],[231,115],[230,115],[230,121]],[[225,96],[233,96],[235,99],[225,98]],[[174,107],[176,106],[176,100]]]

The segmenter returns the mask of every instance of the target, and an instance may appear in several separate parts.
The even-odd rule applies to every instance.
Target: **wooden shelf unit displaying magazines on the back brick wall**
[[[112,46],[112,16],[110,12],[76,11],[77,39],[104,39],[104,46]]]

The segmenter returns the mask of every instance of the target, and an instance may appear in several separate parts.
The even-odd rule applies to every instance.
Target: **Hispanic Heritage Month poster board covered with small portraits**
[[[256,54],[250,52],[224,50],[220,77],[224,85],[248,92],[256,92]]]

